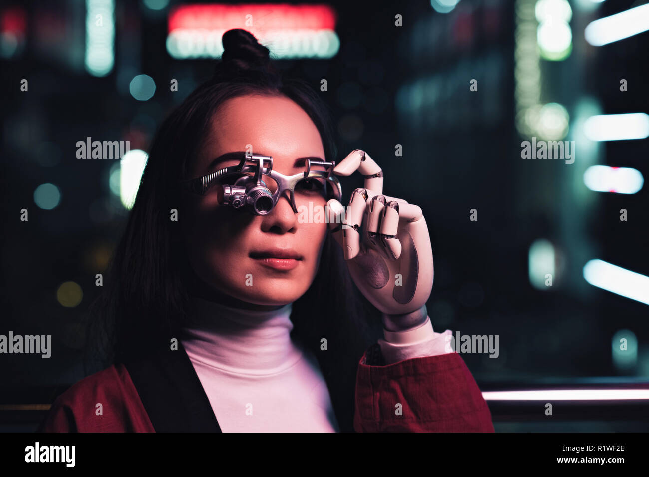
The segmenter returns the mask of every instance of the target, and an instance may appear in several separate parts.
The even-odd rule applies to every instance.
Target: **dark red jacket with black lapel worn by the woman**
[[[380,362],[377,352],[378,345],[370,347],[358,364],[356,432],[494,432],[487,403],[458,353],[368,364]],[[39,430],[221,429],[181,347],[162,358],[116,364],[80,380],[56,399]]]

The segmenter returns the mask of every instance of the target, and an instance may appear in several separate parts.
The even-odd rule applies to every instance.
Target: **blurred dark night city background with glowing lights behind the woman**
[[[56,350],[0,356],[0,430],[32,430],[84,376],[79,323],[147,148],[232,28],[317,91],[326,79],[337,161],[366,150],[384,192],[422,207],[435,330],[499,336],[497,359],[463,355],[496,431],[649,428],[649,4],[66,0],[0,7],[0,334]],[[88,137],[130,151],[80,159]],[[522,157],[532,138],[574,141],[574,162]],[[570,394],[602,389],[619,399]]]

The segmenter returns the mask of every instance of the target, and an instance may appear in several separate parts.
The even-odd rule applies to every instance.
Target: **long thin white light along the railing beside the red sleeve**
[[[626,401],[649,399],[649,390],[487,391],[485,401]]]

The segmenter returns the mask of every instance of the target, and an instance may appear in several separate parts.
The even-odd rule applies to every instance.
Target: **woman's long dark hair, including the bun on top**
[[[212,78],[171,112],[153,139],[103,293],[91,306],[86,373],[89,366],[103,369],[168,349],[170,337],[178,336],[188,315],[188,259],[169,213],[180,207],[176,181],[186,177],[221,103],[241,95],[284,95],[311,117],[326,160],[336,158],[330,112],[308,84],[283,78],[269,50],[245,30],[225,32],[223,47]],[[352,430],[356,369],[378,338],[379,316],[354,285],[341,248],[327,232],[315,279],[293,303],[291,338],[316,356],[343,431]],[[328,351],[320,350],[322,338]]]

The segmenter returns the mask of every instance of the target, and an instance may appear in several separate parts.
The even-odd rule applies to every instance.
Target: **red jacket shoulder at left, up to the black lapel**
[[[153,430],[129,372],[112,365],[83,378],[52,404],[44,432],[128,432]]]

